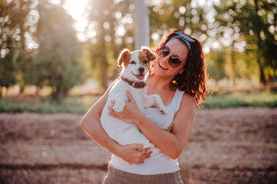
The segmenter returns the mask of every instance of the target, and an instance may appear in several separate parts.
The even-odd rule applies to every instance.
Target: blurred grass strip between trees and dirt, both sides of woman
[[[84,114],[100,96],[68,96],[60,101],[38,96],[10,96],[0,99],[0,112],[35,112],[40,114],[69,112]],[[204,108],[277,107],[277,93],[234,92],[208,96]]]

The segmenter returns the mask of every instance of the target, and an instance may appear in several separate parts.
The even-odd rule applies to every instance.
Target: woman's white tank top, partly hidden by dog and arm
[[[168,114],[161,115],[161,112],[157,108],[146,108],[143,114],[158,127],[170,131],[174,116],[179,110],[183,94],[183,91],[176,90],[170,105],[166,106]],[[112,154],[109,165],[118,170],[143,175],[164,174],[180,170],[177,159],[171,159],[170,156],[164,154],[161,150],[154,152],[149,159],[145,159],[144,163],[139,164],[128,164],[115,154]]]

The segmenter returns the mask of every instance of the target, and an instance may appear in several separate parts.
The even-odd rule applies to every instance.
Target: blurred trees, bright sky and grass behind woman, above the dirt
[[[276,1],[152,0],[146,6],[150,47],[174,28],[202,41],[214,91],[206,108],[277,105]],[[0,16],[0,110],[15,112],[30,111],[24,102],[42,111],[39,104],[51,100],[78,103],[85,112],[97,99],[91,95],[102,94],[120,72],[120,50],[134,50],[139,19],[134,1],[123,0],[8,0],[1,1]],[[229,103],[219,104],[222,99]]]

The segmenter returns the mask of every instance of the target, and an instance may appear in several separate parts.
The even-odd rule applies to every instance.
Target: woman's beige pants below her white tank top
[[[179,171],[166,174],[141,175],[117,170],[110,165],[108,170],[103,184],[183,184]]]

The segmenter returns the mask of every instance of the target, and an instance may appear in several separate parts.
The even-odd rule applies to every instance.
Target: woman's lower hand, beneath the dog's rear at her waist
[[[143,163],[152,154],[148,152],[149,147],[143,149],[142,144],[122,145],[121,148],[116,155],[130,164]]]

